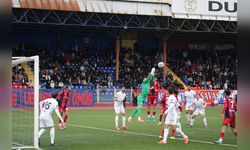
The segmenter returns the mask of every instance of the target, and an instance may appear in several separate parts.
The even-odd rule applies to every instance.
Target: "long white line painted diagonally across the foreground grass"
[[[97,127],[90,127],[90,126],[83,126],[83,125],[73,125],[73,124],[68,124],[69,126],[72,127],[78,127],[78,128],[87,128],[87,129],[94,129],[94,130],[102,130],[102,131],[108,131],[108,132],[115,132],[115,133],[125,133],[125,134],[133,134],[133,135],[141,135],[141,136],[150,136],[150,137],[157,137],[157,135],[153,135],[153,134],[146,134],[146,133],[137,133],[137,132],[129,132],[129,131],[116,131],[116,130],[112,130],[112,129],[105,129],[105,128],[97,128]],[[183,140],[181,138],[176,138],[177,140]],[[191,142],[196,142],[196,143],[204,143],[204,144],[212,144],[215,145],[212,142],[208,142],[208,141],[201,141],[201,140],[192,140],[189,139],[189,141]],[[233,144],[221,144],[223,146],[229,146],[229,147],[238,147],[238,145],[233,145]]]

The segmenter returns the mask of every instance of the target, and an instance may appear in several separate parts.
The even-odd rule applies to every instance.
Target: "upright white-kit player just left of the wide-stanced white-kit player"
[[[187,124],[190,124],[191,117],[194,112],[193,102],[194,102],[195,95],[196,95],[196,92],[191,90],[190,87],[188,87],[184,95],[184,101],[186,103],[185,110],[186,110]]]

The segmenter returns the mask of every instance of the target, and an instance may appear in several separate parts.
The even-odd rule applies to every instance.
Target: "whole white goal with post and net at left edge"
[[[12,149],[39,149],[39,56],[12,57]]]

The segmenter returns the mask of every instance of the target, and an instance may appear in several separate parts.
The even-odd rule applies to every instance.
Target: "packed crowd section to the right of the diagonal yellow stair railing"
[[[197,89],[236,89],[236,51],[174,50],[168,65],[189,86]]]

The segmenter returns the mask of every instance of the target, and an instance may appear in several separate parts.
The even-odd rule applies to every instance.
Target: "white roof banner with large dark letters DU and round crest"
[[[237,0],[172,0],[174,17],[237,20]]]

